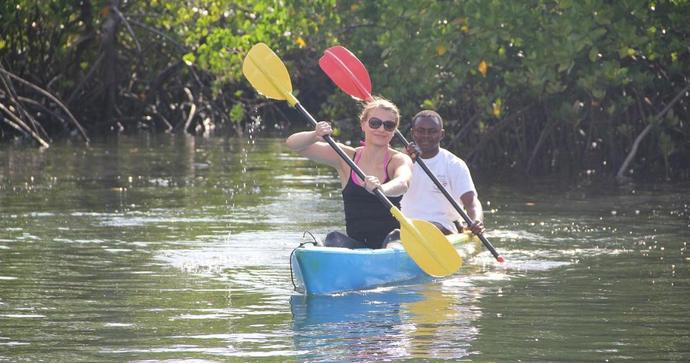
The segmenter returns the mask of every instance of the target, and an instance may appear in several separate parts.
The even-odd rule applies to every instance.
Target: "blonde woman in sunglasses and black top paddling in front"
[[[373,194],[374,190],[379,188],[399,208],[401,196],[407,191],[412,177],[412,160],[390,147],[400,122],[400,112],[392,102],[374,98],[364,105],[359,120],[364,132],[364,146],[338,145],[364,172],[365,180],[361,180],[323,141],[323,137],[332,132],[327,122],[317,123],[314,131],[291,135],[287,145],[309,159],[334,167],[340,176],[347,236],[330,233],[326,237],[326,245],[381,248],[386,236],[400,225]]]

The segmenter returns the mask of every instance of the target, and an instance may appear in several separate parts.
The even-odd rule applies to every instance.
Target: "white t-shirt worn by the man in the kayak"
[[[477,194],[467,164],[450,151],[441,148],[433,158],[422,160],[460,206],[463,205],[460,200],[463,194]],[[412,168],[410,188],[403,195],[400,206],[407,218],[440,223],[447,230],[457,232],[453,221],[461,218],[460,213],[436,188],[419,163],[415,163]]]

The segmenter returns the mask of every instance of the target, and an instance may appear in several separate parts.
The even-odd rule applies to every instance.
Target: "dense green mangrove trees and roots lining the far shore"
[[[355,101],[317,64],[341,44],[403,120],[444,115],[444,146],[479,171],[688,180],[688,38],[684,0],[9,0],[0,142],[298,127],[241,74],[257,42],[286,61],[305,107],[357,142]]]

